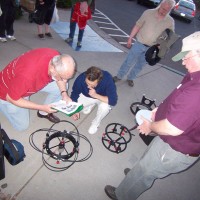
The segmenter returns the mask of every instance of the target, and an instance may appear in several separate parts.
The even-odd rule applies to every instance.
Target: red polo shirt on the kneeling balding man
[[[28,51],[11,61],[0,72],[0,99],[30,96],[45,87],[52,78],[48,75],[50,60],[60,53],[50,48]]]

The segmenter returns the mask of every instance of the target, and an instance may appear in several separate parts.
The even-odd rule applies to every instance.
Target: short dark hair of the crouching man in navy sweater
[[[89,81],[98,80],[98,82],[99,82],[103,78],[102,70],[95,66],[88,68],[87,71],[85,72],[85,74],[86,74],[86,78]]]

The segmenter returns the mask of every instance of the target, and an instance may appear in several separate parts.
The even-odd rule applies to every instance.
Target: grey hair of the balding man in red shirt
[[[73,63],[73,67],[76,68],[76,61],[70,55],[67,54],[56,55],[51,59],[51,64],[55,67],[58,73],[65,72],[68,69],[68,65],[63,64],[64,58],[71,60]]]

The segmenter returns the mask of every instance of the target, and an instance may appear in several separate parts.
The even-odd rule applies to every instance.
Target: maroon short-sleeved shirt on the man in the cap
[[[176,151],[200,154],[200,71],[187,74],[160,104],[155,121],[166,118],[184,132],[178,136],[160,138]]]

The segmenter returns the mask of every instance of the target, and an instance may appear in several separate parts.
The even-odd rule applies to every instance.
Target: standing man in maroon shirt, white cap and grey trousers
[[[181,84],[153,110],[152,122],[142,117],[140,133],[154,138],[142,158],[115,188],[107,185],[111,199],[135,200],[157,178],[188,169],[200,155],[200,31],[183,39],[182,50],[172,58],[182,59],[188,70]]]

